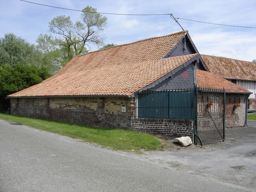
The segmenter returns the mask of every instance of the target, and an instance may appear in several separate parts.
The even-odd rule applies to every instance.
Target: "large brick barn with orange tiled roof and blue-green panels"
[[[75,56],[53,77],[8,98],[14,115],[190,136],[199,104],[214,121],[217,113],[225,118],[226,102],[226,124],[211,124],[244,126],[250,92],[208,71],[181,31]],[[223,87],[226,95],[218,96]],[[206,95],[196,98],[198,90]]]

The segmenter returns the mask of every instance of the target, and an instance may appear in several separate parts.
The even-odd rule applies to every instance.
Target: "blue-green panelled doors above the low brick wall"
[[[138,94],[138,118],[194,118],[192,91],[147,91]]]

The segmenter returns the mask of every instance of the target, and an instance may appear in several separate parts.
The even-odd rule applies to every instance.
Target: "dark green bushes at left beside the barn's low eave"
[[[0,66],[0,110],[9,107],[5,99],[7,95],[26,89],[27,87],[41,83],[51,74],[45,67],[24,65],[1,65]]]

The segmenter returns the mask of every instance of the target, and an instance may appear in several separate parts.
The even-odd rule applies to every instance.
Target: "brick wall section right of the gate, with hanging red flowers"
[[[226,127],[238,127],[245,124],[245,95],[226,94]],[[241,107],[234,109],[236,102],[239,102]]]

